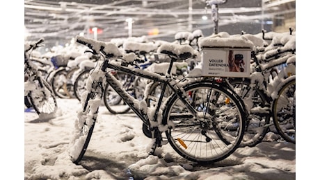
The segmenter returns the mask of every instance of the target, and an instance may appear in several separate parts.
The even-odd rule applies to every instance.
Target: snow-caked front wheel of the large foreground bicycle
[[[87,147],[89,145],[91,136],[93,134],[93,129],[95,128],[95,122],[97,120],[99,105],[90,105],[90,103],[95,103],[96,100],[101,102],[101,98],[98,98],[97,93],[88,93],[86,91],[86,102],[83,103],[83,111],[78,113],[81,114],[81,118],[77,118],[75,125],[75,127],[78,127],[75,131],[78,132],[74,132],[74,136],[70,141],[72,143],[70,143],[68,150],[72,162],[75,164],[79,164],[79,162],[83,159],[83,156],[86,153]]]

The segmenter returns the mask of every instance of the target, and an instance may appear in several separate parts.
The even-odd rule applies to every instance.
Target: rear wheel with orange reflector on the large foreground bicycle
[[[212,82],[193,82],[184,87],[184,91],[198,114],[210,114],[214,121],[210,122],[205,116],[195,119],[178,96],[171,95],[162,120],[163,125],[168,126],[166,137],[171,147],[185,159],[197,163],[214,163],[230,156],[244,134],[246,114],[239,100]]]

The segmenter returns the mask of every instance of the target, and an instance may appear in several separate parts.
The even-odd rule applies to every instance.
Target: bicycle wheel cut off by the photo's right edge
[[[273,100],[273,124],[285,141],[296,144],[296,77],[287,80]]]

